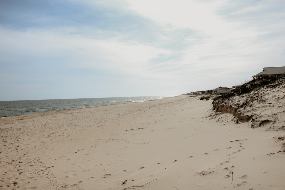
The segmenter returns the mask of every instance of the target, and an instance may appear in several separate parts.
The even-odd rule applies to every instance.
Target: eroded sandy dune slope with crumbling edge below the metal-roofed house
[[[224,112],[236,119],[251,120],[251,127],[285,129],[285,79],[279,79],[252,91],[213,101],[211,117]]]

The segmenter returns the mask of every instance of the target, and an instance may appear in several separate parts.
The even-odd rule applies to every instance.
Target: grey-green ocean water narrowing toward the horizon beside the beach
[[[131,102],[144,102],[148,100],[162,99],[165,97],[171,96],[0,101],[0,118],[49,111],[124,104]]]

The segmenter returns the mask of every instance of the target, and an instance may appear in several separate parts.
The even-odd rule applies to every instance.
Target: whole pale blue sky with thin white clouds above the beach
[[[284,0],[1,0],[0,101],[231,88],[284,44]]]

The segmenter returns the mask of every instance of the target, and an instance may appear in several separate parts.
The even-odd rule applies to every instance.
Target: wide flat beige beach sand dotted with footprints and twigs
[[[274,138],[284,131],[210,119],[211,102],[178,96],[1,118],[0,189],[285,189]]]

